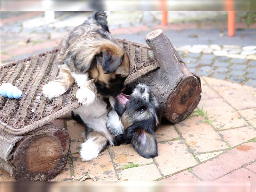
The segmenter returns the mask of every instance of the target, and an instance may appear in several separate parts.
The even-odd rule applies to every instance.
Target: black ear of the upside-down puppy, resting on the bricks
[[[156,135],[154,132],[149,133],[145,130],[133,132],[132,146],[145,158],[153,158],[158,154]]]

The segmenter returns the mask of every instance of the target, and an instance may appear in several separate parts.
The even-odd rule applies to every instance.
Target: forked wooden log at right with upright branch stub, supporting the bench
[[[161,29],[150,32],[145,40],[160,68],[140,77],[130,88],[138,83],[147,84],[162,104],[165,118],[171,123],[179,123],[192,113],[200,101],[200,77],[189,72]]]

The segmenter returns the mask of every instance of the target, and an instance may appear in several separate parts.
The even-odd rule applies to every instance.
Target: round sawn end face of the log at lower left
[[[13,153],[13,178],[18,181],[46,181],[57,175],[68,161],[70,138],[54,125],[22,140]]]

